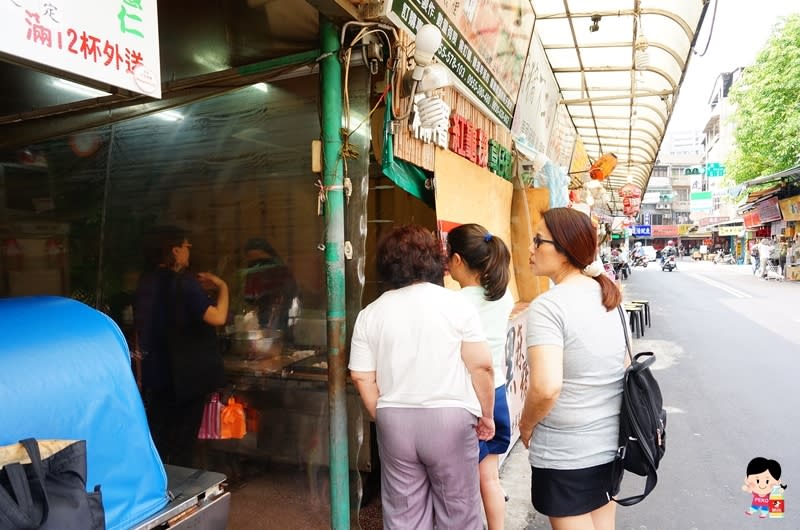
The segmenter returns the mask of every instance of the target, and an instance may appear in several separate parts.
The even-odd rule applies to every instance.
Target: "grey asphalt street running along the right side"
[[[688,258],[671,273],[656,263],[636,268],[624,283],[627,299],[650,300],[652,327],[633,347],[656,353],[668,441],[658,486],[639,505],[618,507],[617,528],[800,528],[800,493],[792,493],[800,492],[800,284]],[[783,520],[744,514],[751,496],[741,486],[756,456],[783,468]],[[529,508],[526,459],[518,444],[503,469],[508,528],[549,528]],[[626,477],[623,494],[643,487]]]

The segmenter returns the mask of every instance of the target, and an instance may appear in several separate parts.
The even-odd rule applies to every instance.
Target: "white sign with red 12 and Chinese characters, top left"
[[[3,56],[161,97],[156,0],[8,0]]]

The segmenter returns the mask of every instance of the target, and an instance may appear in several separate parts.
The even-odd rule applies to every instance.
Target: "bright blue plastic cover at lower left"
[[[106,315],[57,297],[0,300],[0,444],[86,440],[87,488],[106,527],[130,528],[167,504],[128,347]]]

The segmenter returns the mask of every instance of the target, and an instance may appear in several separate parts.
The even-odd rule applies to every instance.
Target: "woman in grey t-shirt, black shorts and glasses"
[[[531,379],[520,421],[530,448],[531,499],[554,529],[614,528],[612,462],[619,435],[625,336],[622,295],[595,262],[585,214],[545,212],[530,247],[533,272],[556,285],[528,317]]]

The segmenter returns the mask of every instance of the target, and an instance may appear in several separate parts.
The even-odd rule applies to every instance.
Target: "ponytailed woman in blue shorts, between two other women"
[[[511,418],[506,399],[506,334],[514,298],[508,291],[511,253],[503,240],[479,224],[464,224],[447,234],[450,276],[460,293],[478,310],[492,350],[494,368],[494,425],[491,440],[480,442],[478,456],[481,498],[489,530],[501,530],[505,492],[500,485],[499,456],[511,443]]]

